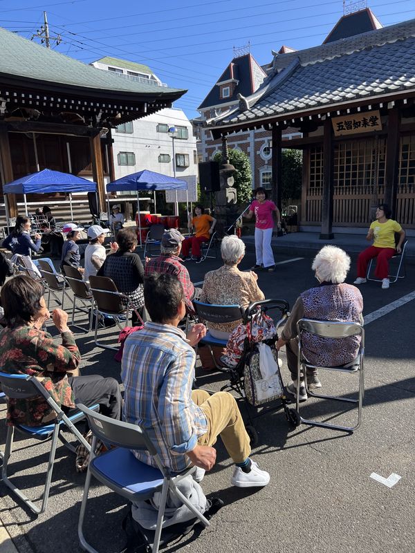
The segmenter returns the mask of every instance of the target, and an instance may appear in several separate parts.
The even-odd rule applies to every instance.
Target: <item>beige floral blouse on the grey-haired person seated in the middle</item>
[[[240,271],[236,265],[222,265],[215,271],[205,274],[201,301],[205,303],[216,303],[222,306],[240,305],[248,307],[252,301],[265,299],[255,277],[250,272]],[[221,330],[221,332],[232,332],[242,322],[232,323],[209,323],[209,328]]]

